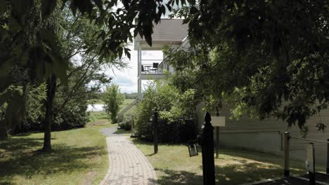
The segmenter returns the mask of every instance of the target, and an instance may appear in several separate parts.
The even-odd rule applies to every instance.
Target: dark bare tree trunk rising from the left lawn
[[[51,125],[53,123],[53,99],[56,95],[56,75],[47,80],[46,115],[44,116],[44,147],[42,151],[51,150]]]

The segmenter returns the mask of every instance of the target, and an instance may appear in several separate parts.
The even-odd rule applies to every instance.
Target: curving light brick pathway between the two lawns
[[[150,162],[127,137],[106,137],[109,169],[101,185],[156,185],[157,176]]]

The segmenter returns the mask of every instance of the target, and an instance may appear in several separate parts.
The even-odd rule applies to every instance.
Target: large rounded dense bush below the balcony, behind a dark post
[[[195,105],[193,90],[179,93],[179,90],[167,82],[150,83],[143,101],[138,104],[135,127],[137,137],[146,141],[153,140],[150,118],[157,108],[159,142],[187,142],[197,135]]]

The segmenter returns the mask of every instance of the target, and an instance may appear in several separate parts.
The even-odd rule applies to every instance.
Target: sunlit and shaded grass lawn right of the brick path
[[[157,171],[159,184],[202,184],[202,156],[188,156],[187,146],[160,144],[153,153],[153,144],[133,139]],[[236,149],[220,149],[215,158],[217,184],[243,184],[283,176],[283,157]],[[305,173],[304,161],[290,160],[292,174]],[[324,170],[321,169],[321,170]]]

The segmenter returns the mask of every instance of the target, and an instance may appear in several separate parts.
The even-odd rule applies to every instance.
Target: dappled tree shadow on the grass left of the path
[[[15,176],[28,179],[34,175],[46,177],[49,174],[92,168],[82,159],[103,155],[104,152],[98,146],[77,148],[65,144],[53,144],[51,152],[36,151],[41,149],[42,142],[43,139],[20,137],[0,142],[0,150],[4,151],[4,156],[0,158],[0,184],[11,184]]]

